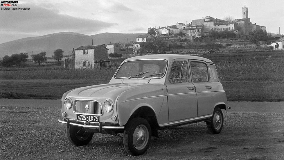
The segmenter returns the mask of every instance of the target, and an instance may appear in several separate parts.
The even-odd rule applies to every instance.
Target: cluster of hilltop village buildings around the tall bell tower
[[[248,8],[245,6],[242,8],[242,19],[235,19],[232,22],[206,16],[202,19],[193,19],[190,24],[176,23],[173,26],[159,27],[156,31],[157,36],[160,37],[182,32],[185,36],[192,36],[193,38],[206,36],[210,31],[232,31],[239,37],[248,38],[250,32],[259,29],[266,31],[266,26],[253,24],[248,17]]]

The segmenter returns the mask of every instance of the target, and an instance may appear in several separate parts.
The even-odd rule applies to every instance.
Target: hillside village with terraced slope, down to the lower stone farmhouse
[[[114,67],[113,63],[117,63],[122,59],[138,56],[144,54],[152,54],[152,48],[145,47],[147,42],[163,41],[165,46],[163,51],[158,49],[159,53],[175,53],[175,54],[200,54],[208,52],[231,52],[231,51],[248,51],[248,50],[269,50],[274,46],[274,43],[267,45],[267,42],[258,48],[256,44],[252,44],[248,38],[249,34],[253,31],[262,30],[266,33],[266,26],[252,23],[248,16],[248,8],[242,7],[242,18],[234,19],[231,22],[206,16],[201,19],[193,19],[191,23],[184,24],[177,22],[175,25],[158,27],[157,29],[149,28],[149,34],[139,35],[136,37],[136,42],[121,45],[118,42],[109,43],[107,45],[96,46],[81,46],[75,49],[75,68],[96,68],[96,67]],[[200,41],[200,39],[210,37],[213,32],[230,32],[234,34],[234,39],[219,39],[214,42],[215,46],[225,47],[212,47],[212,50],[206,49],[208,43]],[[154,32],[154,34],[153,34]],[[278,49],[283,49],[282,39],[275,37],[272,41],[278,40]],[[210,45],[210,44],[209,44]],[[211,44],[212,45],[212,44]],[[144,46],[144,49],[143,47]],[[166,48],[166,49],[165,49]],[[172,48],[172,49],[171,49]],[[274,49],[277,49],[274,47]],[[90,53],[94,53],[91,54]],[[119,59],[120,58],[120,59]]]

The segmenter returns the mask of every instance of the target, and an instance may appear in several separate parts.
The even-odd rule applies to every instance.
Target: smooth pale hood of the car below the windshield
[[[150,83],[115,83],[103,84],[76,88],[66,95],[66,97],[117,97],[119,94],[127,90],[155,88],[161,84]]]

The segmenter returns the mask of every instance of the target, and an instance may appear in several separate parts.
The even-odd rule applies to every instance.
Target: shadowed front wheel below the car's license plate
[[[66,132],[68,140],[76,146],[87,145],[94,136],[94,133],[86,132],[83,127],[73,125],[70,125]]]

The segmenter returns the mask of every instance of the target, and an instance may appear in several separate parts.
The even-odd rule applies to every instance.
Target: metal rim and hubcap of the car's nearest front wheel
[[[145,125],[136,127],[132,137],[133,145],[137,150],[142,150],[149,141],[149,131]]]

